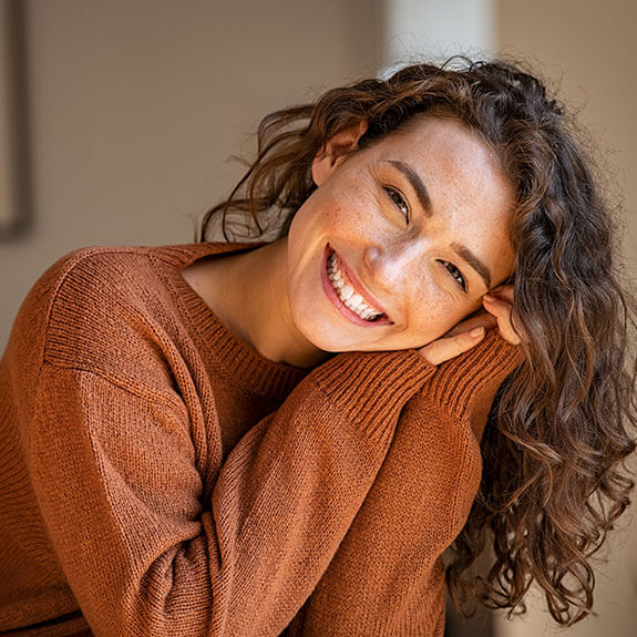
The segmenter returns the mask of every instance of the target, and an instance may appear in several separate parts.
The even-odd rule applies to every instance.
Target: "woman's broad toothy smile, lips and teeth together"
[[[361,294],[361,291],[357,289],[356,284],[339,261],[337,254],[332,251],[329,246],[327,248],[325,267],[328,279],[327,281],[323,280],[326,292],[328,297],[330,297],[330,300],[337,306],[337,309],[350,321],[366,326],[370,323],[391,325],[387,315],[380,308],[372,305],[368,298],[364,298],[364,292]]]

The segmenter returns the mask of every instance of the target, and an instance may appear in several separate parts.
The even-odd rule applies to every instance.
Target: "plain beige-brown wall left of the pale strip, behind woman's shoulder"
[[[52,260],[184,243],[269,111],[376,72],[378,0],[28,0],[34,228],[0,244],[0,350]]]

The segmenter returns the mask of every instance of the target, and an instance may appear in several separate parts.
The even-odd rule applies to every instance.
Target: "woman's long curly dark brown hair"
[[[527,336],[525,360],[490,414],[481,487],[446,567],[450,595],[466,615],[480,604],[524,612],[536,582],[554,619],[571,625],[593,607],[590,557],[633,487],[624,461],[636,445],[636,307],[614,263],[594,164],[542,82],[510,63],[463,58],[275,112],[259,126],[256,161],[206,214],[199,238],[214,219],[236,237],[233,213],[251,217],[257,234],[267,219],[285,235],[316,188],[311,163],[327,140],[366,120],[363,148],[421,113],[458,119],[501,158],[516,197],[514,308]],[[487,544],[493,564],[480,575],[471,566]]]

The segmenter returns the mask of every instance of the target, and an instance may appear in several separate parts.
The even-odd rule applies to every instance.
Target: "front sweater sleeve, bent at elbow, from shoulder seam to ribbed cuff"
[[[335,357],[249,430],[205,501],[178,400],[44,363],[31,475],[95,635],[279,635],[433,373],[413,351]]]

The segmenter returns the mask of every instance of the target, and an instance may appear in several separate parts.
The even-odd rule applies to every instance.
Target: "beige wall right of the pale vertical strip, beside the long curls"
[[[628,218],[624,249],[637,278],[637,72],[631,0],[500,0],[500,44],[505,53],[540,65],[558,82],[561,94],[581,111],[598,146],[597,155],[615,173],[615,197],[625,196]],[[633,524],[630,522],[633,521]],[[637,524],[629,513],[618,525],[608,564],[598,564],[595,608],[589,618],[565,635],[634,637],[637,634]],[[532,604],[524,621],[497,621],[499,637],[553,635],[547,616]]]

